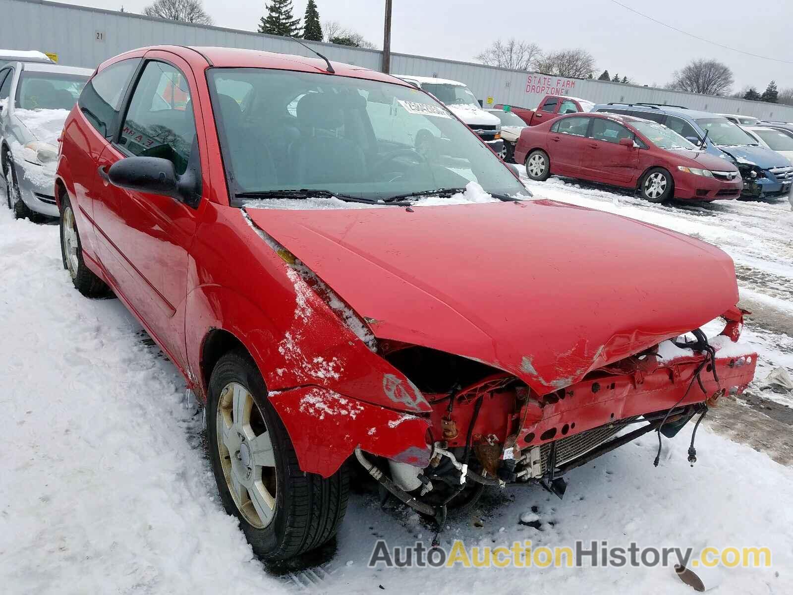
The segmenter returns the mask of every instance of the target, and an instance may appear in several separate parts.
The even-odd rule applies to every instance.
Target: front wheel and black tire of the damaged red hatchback
[[[254,553],[278,562],[335,536],[347,510],[349,480],[345,467],[327,479],[300,469],[266,394],[247,353],[221,357],[209,381],[207,434],[224,508],[237,517]]]

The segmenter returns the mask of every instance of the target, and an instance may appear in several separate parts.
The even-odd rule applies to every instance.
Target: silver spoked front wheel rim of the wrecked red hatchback
[[[259,435],[251,426],[254,421]],[[275,457],[270,432],[251,393],[230,382],[220,391],[216,419],[220,465],[240,514],[265,528],[275,516]]]

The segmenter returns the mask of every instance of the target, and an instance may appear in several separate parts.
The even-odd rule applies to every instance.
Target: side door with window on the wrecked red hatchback
[[[146,58],[121,133],[99,159],[103,187],[94,220],[111,282],[184,369],[188,252],[204,202],[193,209],[174,198],[118,188],[106,177],[113,163],[136,155],[168,159],[178,175],[189,161],[201,159],[195,125],[201,118],[197,103],[190,101],[197,97],[190,67],[167,52],[149,52]]]

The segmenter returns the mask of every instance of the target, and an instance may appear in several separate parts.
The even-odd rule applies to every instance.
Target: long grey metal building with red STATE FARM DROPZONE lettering
[[[262,3],[262,10],[263,8]],[[0,47],[37,49],[58,62],[96,67],[104,59],[153,44],[214,45],[309,56],[284,37],[205,25],[188,25],[138,14],[70,6],[46,0],[0,0]],[[332,60],[378,70],[381,52],[308,42]],[[545,94],[567,94],[596,103],[657,102],[719,113],[793,121],[793,106],[680,93],[597,80],[564,79],[481,64],[392,53],[391,72],[436,76],[466,83],[483,102],[534,108]]]

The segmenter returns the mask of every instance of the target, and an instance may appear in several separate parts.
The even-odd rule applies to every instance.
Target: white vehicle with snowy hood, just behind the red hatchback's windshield
[[[501,121],[481,108],[476,96],[465,86],[465,83],[430,76],[395,76],[435,95],[439,102],[465,122],[497,155],[501,156],[501,159],[504,159],[506,149],[504,141],[501,140]]]

